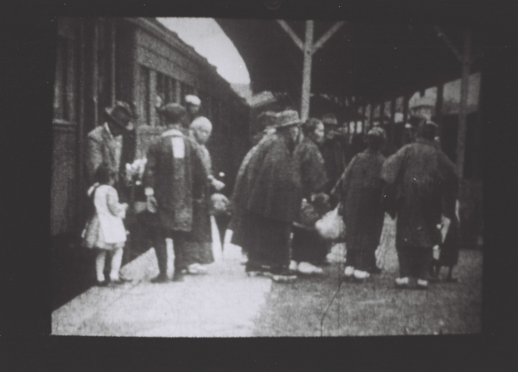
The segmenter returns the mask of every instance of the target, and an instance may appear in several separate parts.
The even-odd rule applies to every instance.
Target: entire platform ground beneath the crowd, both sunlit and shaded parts
[[[114,288],[93,287],[52,313],[53,335],[250,337],[352,336],[480,332],[482,252],[461,252],[461,283],[434,284],[429,291],[398,291],[394,222],[385,220],[378,254],[383,274],[365,284],[344,284],[321,324],[337,289],[339,267],[320,278],[272,283],[248,278],[240,249],[225,245],[217,228],[216,262],[208,275],[181,283],[153,284],[158,274],[153,249],[123,268],[134,278]],[[172,253],[172,246],[168,249]],[[172,265],[169,265],[171,267]],[[172,274],[172,273],[169,273]],[[341,305],[341,306],[340,306]]]

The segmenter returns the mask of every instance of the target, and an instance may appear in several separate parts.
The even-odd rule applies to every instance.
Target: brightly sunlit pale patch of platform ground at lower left
[[[217,234],[218,230],[213,231]],[[214,236],[214,241],[214,251],[221,252],[219,237]],[[215,257],[207,275],[160,284],[150,282],[159,272],[151,248],[123,267],[123,275],[132,282],[92,287],[56,309],[52,335],[252,336],[253,319],[270,291],[271,280],[247,277],[239,248],[225,248],[227,254]]]

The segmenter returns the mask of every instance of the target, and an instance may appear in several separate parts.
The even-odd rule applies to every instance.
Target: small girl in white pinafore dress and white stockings
[[[97,249],[95,270],[97,285],[104,286],[106,255],[111,255],[110,282],[119,284],[119,269],[126,242],[126,229],[122,219],[126,216],[126,203],[119,203],[117,190],[113,188],[114,175],[105,165],[100,165],[95,173],[96,183],[88,190],[88,195],[95,206],[95,215],[83,232],[83,239],[89,248]]]

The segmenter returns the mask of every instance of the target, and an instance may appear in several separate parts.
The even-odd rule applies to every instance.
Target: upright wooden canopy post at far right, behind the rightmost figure
[[[471,31],[466,30],[464,35],[464,53],[461,78],[461,107],[458,115],[457,132],[457,174],[459,180],[464,177],[464,155],[466,149],[467,109],[468,109],[468,86],[469,69],[471,62]]]

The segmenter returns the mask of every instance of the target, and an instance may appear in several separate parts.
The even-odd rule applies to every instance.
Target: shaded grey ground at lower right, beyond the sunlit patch
[[[481,332],[482,252],[461,251],[458,283],[431,284],[427,291],[397,290],[394,221],[385,220],[380,246],[381,275],[367,283],[342,282],[343,264],[322,277],[274,283],[255,319],[255,336],[375,336]],[[443,268],[445,276],[446,269]],[[331,299],[334,297],[334,301]],[[329,306],[330,304],[330,306]],[[329,306],[327,312],[326,308]],[[325,314],[324,314],[325,313]]]

